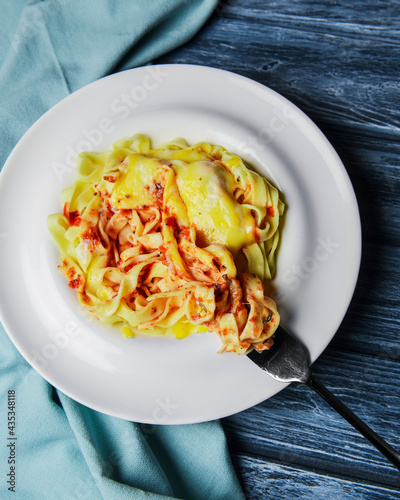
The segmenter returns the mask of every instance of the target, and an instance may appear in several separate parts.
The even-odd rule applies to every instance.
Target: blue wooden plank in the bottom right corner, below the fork
[[[300,467],[287,467],[244,454],[233,459],[247,500],[396,500],[395,488],[353,482]]]

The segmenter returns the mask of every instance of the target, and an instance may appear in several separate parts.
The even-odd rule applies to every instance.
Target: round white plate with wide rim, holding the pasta
[[[75,400],[149,424],[194,423],[280,391],[249,359],[217,354],[214,334],[124,338],[82,313],[57,269],[46,226],[81,150],[135,133],[237,152],[284,193],[274,282],[282,324],[315,360],[335,334],[357,280],[361,231],[347,173],[319,129],[259,83],[190,65],[118,73],[75,92],[22,138],[0,175],[0,303],[25,359]]]

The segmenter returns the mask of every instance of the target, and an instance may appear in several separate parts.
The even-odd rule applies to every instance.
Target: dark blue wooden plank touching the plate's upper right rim
[[[239,7],[232,16],[234,9],[236,3],[161,61],[229,69],[277,90],[317,122],[399,135],[400,113],[393,106],[399,99],[398,41],[358,32],[349,38],[337,29],[327,33],[326,23],[320,31],[294,22],[265,25],[261,14],[270,15],[265,8],[249,9],[251,19]]]

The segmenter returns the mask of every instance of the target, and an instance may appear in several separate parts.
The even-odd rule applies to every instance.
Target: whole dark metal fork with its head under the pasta
[[[313,389],[400,470],[400,453],[323,385],[310,370],[310,356],[305,346],[282,327],[276,331],[270,350],[252,351],[247,357],[279,382],[300,382]]]

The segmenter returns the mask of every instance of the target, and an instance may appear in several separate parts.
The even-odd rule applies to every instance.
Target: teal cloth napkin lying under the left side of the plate
[[[52,105],[188,41],[215,4],[0,0],[0,165]],[[0,437],[1,499],[244,498],[218,421],[149,426],[91,410],[36,373],[1,327]]]

